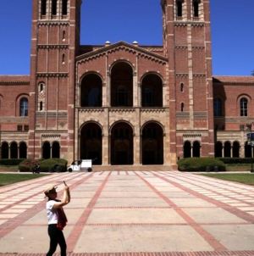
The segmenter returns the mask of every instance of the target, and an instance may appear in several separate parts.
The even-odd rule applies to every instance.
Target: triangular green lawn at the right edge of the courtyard
[[[198,174],[198,175],[213,177],[213,178],[225,180],[225,181],[235,181],[235,182],[243,183],[246,185],[254,186],[254,174],[251,174],[251,173],[243,173],[243,174],[240,174],[240,173],[236,173],[236,174],[220,173],[219,174],[218,173],[218,174]]]

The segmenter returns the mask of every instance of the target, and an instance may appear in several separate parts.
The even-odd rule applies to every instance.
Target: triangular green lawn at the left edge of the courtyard
[[[28,181],[31,179],[36,179],[43,177],[45,175],[26,175],[26,174],[1,174],[0,173],[0,186],[6,186],[8,184],[13,184],[19,181]]]

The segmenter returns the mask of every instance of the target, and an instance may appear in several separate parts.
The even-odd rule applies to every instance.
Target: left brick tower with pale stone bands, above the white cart
[[[75,56],[80,46],[81,0],[33,0],[30,54],[28,158],[43,158],[42,146],[61,147],[73,159]]]

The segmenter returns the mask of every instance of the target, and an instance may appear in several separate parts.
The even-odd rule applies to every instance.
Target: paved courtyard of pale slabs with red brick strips
[[[47,253],[43,190],[56,185],[61,198],[65,181],[69,255],[254,255],[254,187],[156,170],[54,173],[0,187],[0,254]]]

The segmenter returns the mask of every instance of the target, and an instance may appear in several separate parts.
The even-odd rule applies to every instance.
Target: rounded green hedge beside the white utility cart
[[[54,166],[57,164],[60,168],[58,171],[67,170],[67,160],[65,159],[25,159],[19,164],[20,172],[31,172],[36,164],[40,164],[40,172],[56,171]]]

